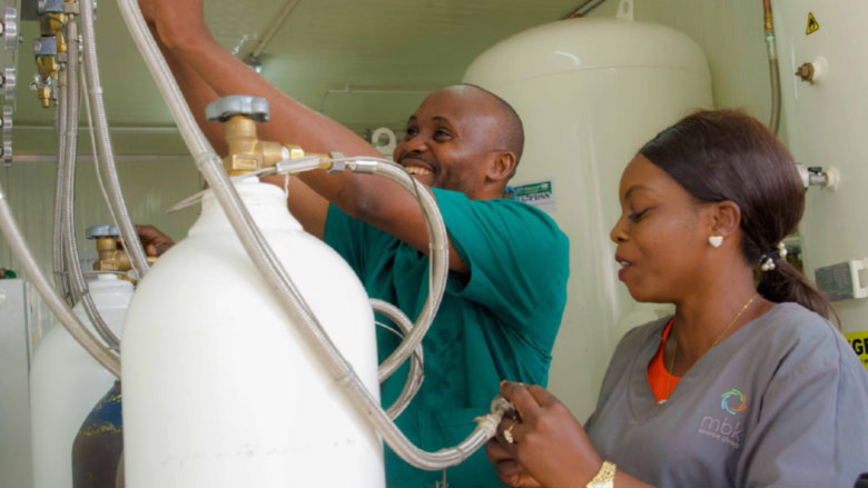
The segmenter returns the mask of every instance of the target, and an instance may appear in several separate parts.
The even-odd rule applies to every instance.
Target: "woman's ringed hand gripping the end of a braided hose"
[[[566,406],[539,386],[504,381],[501,394],[517,411],[517,420],[504,417],[486,447],[502,481],[568,487],[594,477],[602,460]]]

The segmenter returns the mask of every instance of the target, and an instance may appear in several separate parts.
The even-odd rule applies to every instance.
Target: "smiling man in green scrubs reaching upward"
[[[379,156],[220,48],[204,23],[201,0],[140,4],[197,117],[218,97],[253,94],[270,104],[270,121],[259,126],[263,140],[297,143],[308,152]],[[199,121],[225,153],[221,127]],[[395,149],[395,161],[431,188],[451,240],[446,293],[423,342],[425,381],[397,419],[426,450],[463,440],[473,418],[489,410],[500,380],[546,382],[566,300],[569,245],[545,213],[503,199],[523,139],[521,121],[506,102],[462,84],[426,98]],[[283,178],[274,182],[283,186]],[[312,171],[290,180],[288,206],[305,230],[349,262],[371,297],[396,303],[411,318],[418,315],[427,295],[428,240],[412,196],[383,178]],[[377,340],[382,360],[397,339],[378,330]],[[400,394],[406,370],[383,385],[384,406]],[[447,475],[452,488],[500,486],[483,451]],[[401,488],[433,488],[443,478],[412,468],[388,448],[386,476],[388,486]]]

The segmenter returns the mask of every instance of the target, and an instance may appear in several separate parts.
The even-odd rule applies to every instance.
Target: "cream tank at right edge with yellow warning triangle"
[[[841,177],[836,191],[807,193],[802,259],[815,279],[818,268],[868,257],[868,2],[772,1],[772,11],[790,151],[798,162],[835,167]],[[812,84],[793,74],[806,62],[819,71]],[[856,287],[868,287],[860,275]],[[835,308],[846,332],[868,332],[868,300],[836,301]]]

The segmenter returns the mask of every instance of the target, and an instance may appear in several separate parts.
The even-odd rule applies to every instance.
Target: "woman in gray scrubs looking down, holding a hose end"
[[[868,471],[868,379],[782,239],[805,189],[792,158],[737,111],[689,116],[621,177],[619,278],[675,315],[628,332],[582,426],[544,389],[487,454],[534,487],[851,487]],[[865,225],[865,222],[852,222]]]

